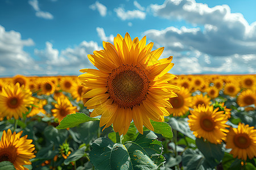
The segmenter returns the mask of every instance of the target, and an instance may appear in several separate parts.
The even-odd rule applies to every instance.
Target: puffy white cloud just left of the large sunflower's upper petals
[[[94,50],[102,49],[94,41],[82,41],[74,48],[57,50],[51,42],[46,42],[45,49],[35,49],[34,53],[44,61],[48,69],[47,74],[79,74],[80,69],[93,68],[87,55],[93,54]]]

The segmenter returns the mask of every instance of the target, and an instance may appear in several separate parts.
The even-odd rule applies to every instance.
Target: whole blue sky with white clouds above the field
[[[117,33],[147,36],[172,74],[256,74],[256,1],[0,1],[0,76],[79,75]]]

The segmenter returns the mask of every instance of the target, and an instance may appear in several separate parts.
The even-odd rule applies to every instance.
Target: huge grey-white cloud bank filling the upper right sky
[[[255,73],[256,22],[249,25],[242,14],[231,13],[228,5],[210,8],[194,0],[167,0],[162,5],[150,5],[150,9],[155,16],[195,25],[195,28],[167,27],[143,33],[156,46],[165,46],[167,52],[177,54],[176,67],[179,65],[187,74],[189,70],[242,73],[242,69]],[[191,65],[197,69],[191,69]]]

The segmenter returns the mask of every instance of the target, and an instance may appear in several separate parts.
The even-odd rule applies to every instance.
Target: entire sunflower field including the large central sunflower
[[[103,46],[79,76],[0,78],[0,169],[256,169],[256,75],[173,75],[128,33]]]

